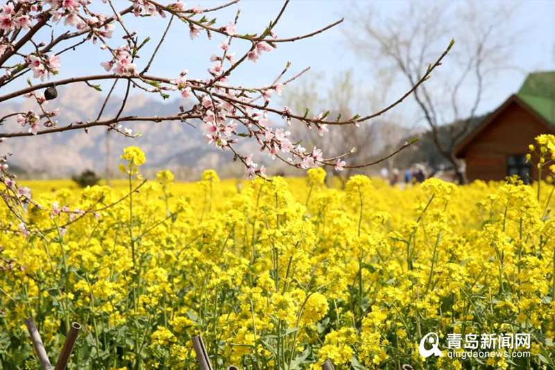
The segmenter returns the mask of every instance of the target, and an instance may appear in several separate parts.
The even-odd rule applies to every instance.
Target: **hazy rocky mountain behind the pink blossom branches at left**
[[[93,120],[103,103],[103,96],[83,85],[82,89],[58,87],[58,98],[49,101],[48,108],[60,109],[57,116],[58,125],[67,125],[75,121]],[[114,96],[105,107],[103,117],[114,116],[119,110],[121,98]],[[130,96],[124,115],[164,116],[178,112],[180,102],[172,100],[164,103],[137,94]],[[30,98],[15,103],[0,105],[0,116],[11,112],[37,110],[37,105]],[[198,124],[198,123],[197,123]],[[198,177],[205,168],[223,170],[227,175],[239,175],[243,170],[239,164],[232,163],[232,155],[207,145],[200,130],[186,123],[178,122],[134,122],[124,123],[133,132],[141,132],[138,138],[128,138],[117,132],[108,134],[104,127],[91,127],[84,130],[72,130],[55,134],[25,136],[6,139],[0,143],[0,154],[12,153],[10,165],[17,167],[27,177],[69,177],[85,169],[92,169],[105,175],[106,166],[110,173],[117,174],[119,155],[126,146],[139,146],[147,158],[145,170],[170,168],[180,177]],[[3,129],[3,130],[2,130]],[[21,131],[15,120],[8,121],[1,131]],[[26,130],[23,129],[23,130]],[[239,146],[241,148],[241,146]],[[107,162],[108,152],[108,162]]]

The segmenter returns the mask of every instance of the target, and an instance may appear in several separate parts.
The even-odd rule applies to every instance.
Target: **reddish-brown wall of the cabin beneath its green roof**
[[[466,147],[466,177],[469,181],[504,179],[506,157],[527,153],[536,136],[549,133],[553,132],[518,103],[509,104]],[[534,167],[532,177],[538,178]]]

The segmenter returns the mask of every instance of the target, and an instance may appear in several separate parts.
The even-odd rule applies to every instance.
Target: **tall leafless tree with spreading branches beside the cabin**
[[[496,9],[484,3],[411,3],[391,19],[379,19],[376,8],[357,9],[355,28],[346,35],[352,48],[375,65],[389,66],[413,85],[429,68],[429,58],[446,38],[457,45],[448,64],[432,84],[421,85],[413,97],[427,123],[438,152],[452,164],[459,182],[465,182],[463,164],[453,148],[468,134],[475,121],[486,87],[495,72],[507,66],[513,42],[506,30],[511,6]],[[479,8],[478,8],[479,7]],[[441,127],[445,126],[445,127]]]

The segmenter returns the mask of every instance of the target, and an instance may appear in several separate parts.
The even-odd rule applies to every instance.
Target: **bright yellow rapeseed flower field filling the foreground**
[[[26,317],[52,360],[83,325],[70,369],[196,369],[198,334],[214,369],[555,368],[552,184],[177,184],[145,161],[127,148],[113,188],[42,183],[27,226],[0,207],[1,369],[37,369]],[[531,355],[425,359],[430,332],[529,333]]]

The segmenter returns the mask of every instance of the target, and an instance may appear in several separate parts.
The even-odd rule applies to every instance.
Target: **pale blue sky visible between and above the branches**
[[[200,3],[203,7],[219,5],[223,1],[186,1],[188,6]],[[123,8],[128,1],[114,1],[117,7]],[[427,3],[430,3],[427,1]],[[512,48],[513,59],[510,61],[511,69],[500,71],[493,86],[488,89],[484,102],[479,112],[488,112],[502,103],[512,92],[516,91],[526,73],[533,70],[555,69],[555,1],[531,0],[520,3],[509,3],[506,1],[486,1],[493,6],[518,5],[518,13],[515,15],[509,29],[512,33],[518,33],[519,42]],[[341,0],[293,0],[282,17],[275,32],[280,37],[288,37],[311,32],[345,17],[343,24],[327,30],[325,33],[301,40],[299,42],[280,44],[279,48],[271,53],[265,53],[256,64],[246,62],[234,72],[232,82],[241,85],[267,85],[282,70],[287,61],[292,63],[290,71],[296,73],[305,67],[311,67],[311,74],[305,78],[324,76],[323,87],[330,87],[332,77],[352,69],[358,83],[362,87],[374,87],[373,67],[375,65],[368,58],[352,53],[345,43],[345,30],[352,27],[351,6],[355,4],[360,8],[374,6],[379,16],[386,19],[395,15],[407,6],[407,1],[341,1]],[[456,2],[456,4],[463,4]],[[238,6],[232,6],[217,13],[216,25],[227,24],[237,10],[241,9],[241,17],[237,31],[239,33],[256,33],[264,30],[268,21],[273,19],[282,6],[279,0],[242,0]],[[127,19],[127,18],[126,18]],[[160,38],[164,24],[162,19],[134,19],[129,17],[129,28],[139,31],[140,35],[149,35],[153,41],[146,48],[151,50],[157,39]],[[167,21],[167,20],[166,20]],[[460,30],[459,30],[460,31]],[[447,35],[448,36],[448,35]],[[176,22],[158,54],[151,73],[162,76],[178,76],[182,69],[188,69],[190,75],[198,78],[207,77],[206,69],[210,67],[210,55],[218,53],[217,45],[222,37],[214,36],[212,41],[202,35],[194,41],[189,39],[189,31],[184,24]],[[117,39],[114,39],[117,40]],[[114,44],[117,46],[117,44]],[[151,48],[151,49],[149,49]],[[241,55],[246,48],[247,42],[234,42],[232,51]],[[145,54],[145,55],[148,55]],[[85,46],[76,53],[62,55],[62,73],[58,78],[69,76],[102,73],[103,69],[99,63],[108,60],[108,53],[100,51],[98,46]],[[139,61],[139,69],[144,66],[148,58]],[[445,63],[434,73],[449,73],[449,62]],[[293,87],[294,88],[294,87]],[[379,88],[379,87],[377,87]],[[391,98],[402,94],[408,85],[400,83],[391,92]],[[287,94],[287,91],[284,93]],[[410,104],[410,103],[409,103]],[[409,109],[407,107],[407,109]],[[365,113],[365,112],[361,112]]]

